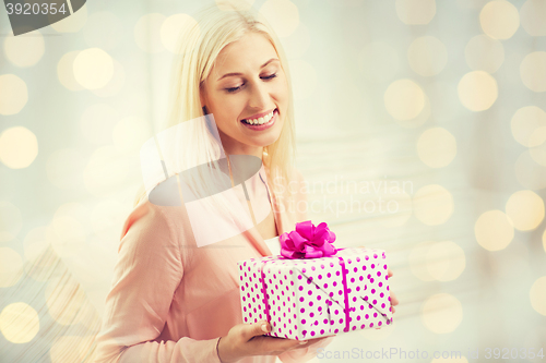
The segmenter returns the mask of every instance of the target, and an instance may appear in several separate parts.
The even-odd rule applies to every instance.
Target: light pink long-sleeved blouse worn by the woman
[[[252,208],[262,215],[272,208],[277,231],[289,232],[297,221],[306,220],[305,211],[295,207],[306,201],[299,193],[302,178],[298,173],[298,187],[293,187],[298,193],[290,204],[286,193],[272,193],[266,176],[262,166],[246,183]],[[221,362],[217,338],[242,323],[237,262],[271,255],[271,251],[256,228],[201,247],[189,230],[183,206],[157,206],[144,199],[129,215],[96,337],[95,362]],[[332,339],[278,358],[305,362]],[[275,356],[239,362],[273,363]]]

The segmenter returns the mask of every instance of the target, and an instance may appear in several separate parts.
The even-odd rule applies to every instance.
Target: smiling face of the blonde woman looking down
[[[261,157],[283,129],[288,85],[275,48],[248,33],[227,45],[201,87],[201,105],[214,116],[228,154]]]

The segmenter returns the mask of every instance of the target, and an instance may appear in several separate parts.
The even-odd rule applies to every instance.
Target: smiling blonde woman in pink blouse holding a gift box
[[[289,207],[305,195],[284,187],[301,178],[290,167],[293,102],[280,43],[258,15],[211,8],[198,26],[182,34],[179,53],[170,123],[214,117],[223,150],[202,143],[204,152],[200,148],[194,158],[262,159],[259,172],[245,183],[256,226],[200,245],[183,203],[174,207],[140,199],[123,227],[96,362],[274,362],[275,355],[283,362],[309,360],[332,338],[265,337],[271,331],[266,320],[240,324],[237,262],[270,255],[265,240],[275,241],[306,220]],[[214,134],[210,125],[195,123],[192,130],[192,138]],[[181,170],[178,162],[165,161],[169,174]],[[284,185],[277,187],[282,191],[273,191],[272,180]],[[215,226],[212,221],[201,228]]]

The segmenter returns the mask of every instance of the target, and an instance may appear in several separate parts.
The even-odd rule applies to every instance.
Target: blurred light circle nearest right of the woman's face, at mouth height
[[[396,120],[411,120],[425,107],[425,93],[412,80],[391,83],[384,93],[387,111]]]

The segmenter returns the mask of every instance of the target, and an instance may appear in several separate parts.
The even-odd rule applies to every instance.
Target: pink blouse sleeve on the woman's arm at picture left
[[[162,209],[144,202],[131,213],[96,337],[96,363],[221,363],[217,339],[154,341],[183,276],[178,242]]]

